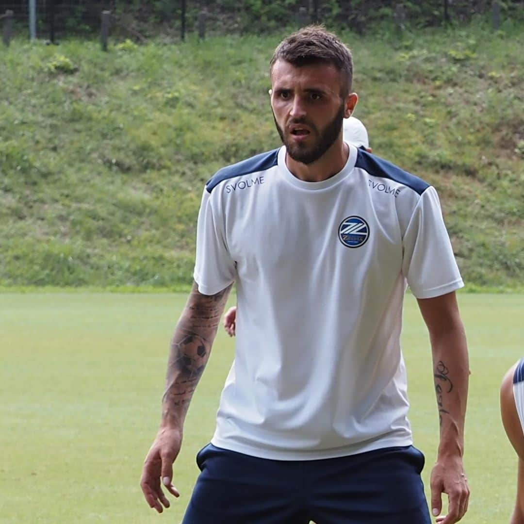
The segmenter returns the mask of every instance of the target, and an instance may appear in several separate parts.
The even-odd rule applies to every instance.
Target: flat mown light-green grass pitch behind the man
[[[460,294],[471,355],[463,522],[507,524],[516,459],[498,412],[505,370],[522,354],[524,296]],[[169,338],[183,294],[0,294],[0,522],[181,521],[195,453],[214,428],[234,345],[223,330],[193,398],[174,469],[181,497],[158,516],[138,485],[160,418]],[[438,439],[431,359],[416,301],[403,331],[416,445],[428,484]]]

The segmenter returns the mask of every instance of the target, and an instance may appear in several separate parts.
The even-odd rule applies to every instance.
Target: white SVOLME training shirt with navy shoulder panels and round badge
[[[212,443],[278,460],[411,444],[402,300],[463,286],[438,195],[350,146],[321,182],[286,149],[221,169],[206,184],[194,279],[236,281],[236,353]]]

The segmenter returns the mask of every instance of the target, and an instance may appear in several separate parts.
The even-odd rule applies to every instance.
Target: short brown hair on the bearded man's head
[[[282,40],[269,62],[269,73],[277,60],[284,60],[297,67],[319,62],[333,64],[342,73],[342,96],[347,96],[351,91],[353,82],[351,51],[324,26],[303,27]]]

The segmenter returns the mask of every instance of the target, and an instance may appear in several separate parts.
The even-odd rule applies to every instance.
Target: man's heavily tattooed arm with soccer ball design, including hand
[[[159,513],[163,511],[162,505],[169,507],[160,479],[172,495],[179,496],[172,485],[172,466],[182,444],[185,415],[208,362],[231,287],[208,296],[201,294],[194,283],[171,340],[160,429],[147,454],[140,479],[147,503]]]

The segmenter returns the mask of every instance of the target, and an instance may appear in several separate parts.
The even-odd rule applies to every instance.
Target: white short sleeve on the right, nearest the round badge
[[[420,196],[406,228],[402,272],[417,298],[439,297],[464,286],[433,187]]]

